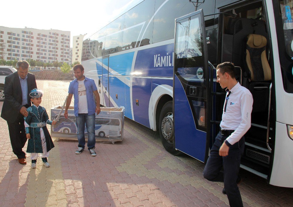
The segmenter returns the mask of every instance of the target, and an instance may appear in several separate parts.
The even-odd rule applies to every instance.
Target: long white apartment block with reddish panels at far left
[[[44,63],[70,63],[70,31],[0,26],[4,60],[33,59]]]

